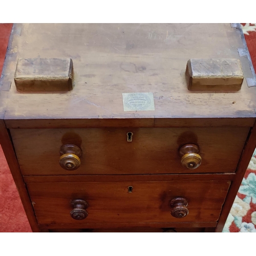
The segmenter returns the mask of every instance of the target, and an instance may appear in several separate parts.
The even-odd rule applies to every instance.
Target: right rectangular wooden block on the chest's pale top
[[[239,91],[244,76],[239,59],[189,59],[186,78],[190,91]]]

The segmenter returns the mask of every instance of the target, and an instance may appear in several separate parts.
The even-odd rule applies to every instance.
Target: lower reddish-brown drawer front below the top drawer
[[[27,183],[38,223],[49,225],[216,222],[229,185],[230,181]],[[187,205],[178,204],[177,198]],[[72,200],[87,202],[87,218],[71,217],[74,209],[82,208]],[[176,203],[171,207],[172,200]],[[186,210],[185,217],[176,218]]]

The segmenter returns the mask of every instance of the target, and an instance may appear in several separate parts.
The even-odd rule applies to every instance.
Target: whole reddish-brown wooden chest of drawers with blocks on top
[[[1,144],[32,230],[222,231],[256,144],[247,53],[238,24],[14,25]]]

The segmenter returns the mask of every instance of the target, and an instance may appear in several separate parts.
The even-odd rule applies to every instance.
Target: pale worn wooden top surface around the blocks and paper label
[[[16,24],[1,83],[2,119],[255,118],[255,88],[191,92],[191,58],[240,57],[230,24]],[[71,58],[75,87],[64,93],[20,93],[17,58]],[[11,82],[11,88],[9,91]],[[153,93],[155,111],[124,111],[122,93]],[[97,126],[97,125],[96,125]]]

